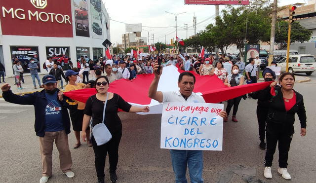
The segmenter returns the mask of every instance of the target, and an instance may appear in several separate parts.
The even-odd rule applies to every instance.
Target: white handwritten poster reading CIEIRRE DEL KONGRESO
[[[164,103],[160,148],[222,150],[223,104]]]

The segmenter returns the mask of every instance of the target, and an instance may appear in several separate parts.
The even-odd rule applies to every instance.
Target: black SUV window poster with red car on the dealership
[[[69,63],[69,47],[46,46],[46,57],[56,60],[62,67]]]

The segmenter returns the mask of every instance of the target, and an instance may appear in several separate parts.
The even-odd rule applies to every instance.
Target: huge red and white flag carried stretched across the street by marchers
[[[179,70],[173,65],[163,68],[160,76],[157,91],[176,91],[178,88],[179,74],[184,71]],[[192,72],[193,73],[193,72]],[[194,73],[195,74],[195,73]],[[225,100],[233,99],[246,93],[262,90],[270,85],[271,82],[261,82],[254,84],[247,84],[242,86],[227,87],[223,81],[217,76],[198,75],[196,76],[196,83],[194,92],[202,96],[206,103],[218,103]],[[125,101],[134,106],[150,106],[149,113],[140,114],[154,114],[162,112],[162,104],[148,97],[148,90],[153,81],[154,74],[140,74],[134,80],[119,79],[110,84],[109,91],[117,93]],[[128,89],[126,89],[128,88]],[[64,93],[65,96],[70,97],[80,102],[86,102],[91,96],[96,94],[95,88],[74,90]]]

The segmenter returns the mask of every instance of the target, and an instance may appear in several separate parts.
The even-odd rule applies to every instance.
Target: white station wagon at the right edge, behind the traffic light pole
[[[281,67],[281,73],[286,72],[286,58],[281,59],[277,66]],[[288,72],[311,75],[314,71],[316,71],[316,59],[313,55],[299,54],[289,56]]]

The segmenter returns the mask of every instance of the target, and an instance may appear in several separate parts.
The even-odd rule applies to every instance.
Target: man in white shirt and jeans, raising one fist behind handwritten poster
[[[162,66],[160,66],[160,73],[157,73],[158,63],[154,64],[155,78],[152,81],[148,96],[159,103],[164,102],[182,102],[182,103],[205,103],[201,96],[193,92],[196,78],[193,73],[183,72],[178,78],[177,91],[161,92],[157,91],[158,82],[162,73]],[[221,117],[226,117],[227,113],[221,111]],[[190,179],[192,183],[203,183],[203,151],[202,150],[175,150],[170,149],[172,167],[175,174],[176,183],[187,183],[186,171],[187,165],[189,167]]]

